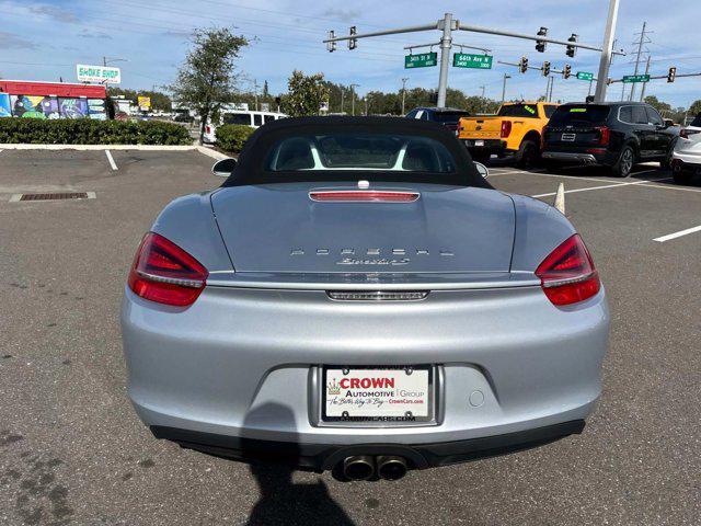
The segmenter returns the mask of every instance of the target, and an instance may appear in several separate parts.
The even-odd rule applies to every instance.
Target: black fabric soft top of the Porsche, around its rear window
[[[447,184],[455,186],[479,186],[491,188],[476,171],[470,153],[445,126],[427,121],[403,117],[290,117],[267,123],[249,138],[239,162],[222,186],[269,184],[299,181],[356,181],[357,171],[309,170],[269,172],[265,170],[265,159],[271,148],[281,139],[309,135],[337,134],[393,134],[412,135],[440,142],[455,160],[452,173],[372,171],[372,180],[386,182],[415,182]]]

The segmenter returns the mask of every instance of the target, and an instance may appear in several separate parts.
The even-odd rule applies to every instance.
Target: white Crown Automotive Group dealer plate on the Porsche
[[[413,422],[433,416],[429,367],[326,367],[323,418],[348,422]]]

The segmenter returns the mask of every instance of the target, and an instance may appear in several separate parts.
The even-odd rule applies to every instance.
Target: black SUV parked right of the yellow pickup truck
[[[678,136],[679,128],[650,104],[564,104],[543,129],[542,158],[548,164],[601,164],[627,178],[636,162],[659,161],[667,168]]]

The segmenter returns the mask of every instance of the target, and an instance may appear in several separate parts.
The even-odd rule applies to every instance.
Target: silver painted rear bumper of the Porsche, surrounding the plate
[[[128,393],[148,426],[338,448],[418,447],[584,420],[600,393],[608,325],[604,288],[556,308],[539,286],[376,302],[208,286],[187,309],[126,289],[122,311]],[[435,422],[321,420],[321,365],[422,364],[439,378]]]

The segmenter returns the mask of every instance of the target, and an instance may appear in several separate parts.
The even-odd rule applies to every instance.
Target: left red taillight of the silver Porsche
[[[143,299],[186,307],[195,302],[209,273],[172,241],[149,232],[143,237],[129,272],[129,288]]]

